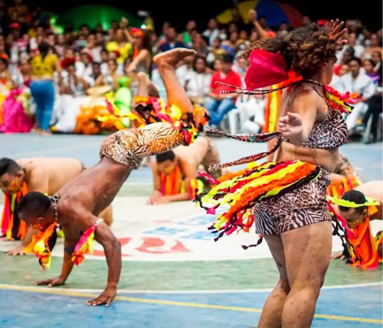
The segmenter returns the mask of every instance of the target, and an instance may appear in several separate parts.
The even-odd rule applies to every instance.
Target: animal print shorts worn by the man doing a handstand
[[[185,144],[183,134],[171,124],[158,122],[111,134],[101,145],[100,157],[137,169],[146,156],[166,152]]]

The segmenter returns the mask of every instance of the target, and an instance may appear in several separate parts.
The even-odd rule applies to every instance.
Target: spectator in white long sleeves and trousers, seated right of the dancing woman
[[[346,118],[347,128],[352,132],[357,126],[358,119],[367,110],[367,102],[375,93],[375,84],[373,80],[360,69],[362,62],[359,58],[354,57],[349,62],[350,72],[340,78],[338,84],[339,91],[345,93],[359,93],[362,97],[355,104],[351,114]]]

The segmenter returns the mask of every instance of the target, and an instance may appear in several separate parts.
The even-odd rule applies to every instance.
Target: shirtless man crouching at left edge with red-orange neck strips
[[[24,255],[25,246],[38,232],[32,228],[22,227],[25,222],[21,221],[17,215],[14,216],[14,209],[21,197],[25,196],[24,193],[39,191],[53,195],[84,170],[85,166],[75,158],[34,157],[16,161],[7,157],[0,158],[0,189],[8,202],[8,206],[3,209],[2,230],[4,231],[1,233],[3,237],[8,235],[7,239],[10,240],[22,239],[20,245],[7,251],[8,255]],[[102,211],[100,217],[110,226],[113,222],[111,206]]]

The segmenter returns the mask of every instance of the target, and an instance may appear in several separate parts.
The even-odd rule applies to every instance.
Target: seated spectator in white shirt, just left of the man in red
[[[185,76],[186,94],[203,106],[209,96],[211,74],[206,73],[206,60],[196,56],[193,60],[193,70]]]

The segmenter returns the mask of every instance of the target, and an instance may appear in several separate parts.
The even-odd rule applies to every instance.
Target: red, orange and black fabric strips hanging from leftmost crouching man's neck
[[[28,186],[25,182],[21,185],[21,190],[15,194],[4,194],[4,208],[1,221],[1,236],[7,240],[22,240],[26,234],[27,226],[24,221],[15,215],[15,209],[20,199],[28,194]]]

